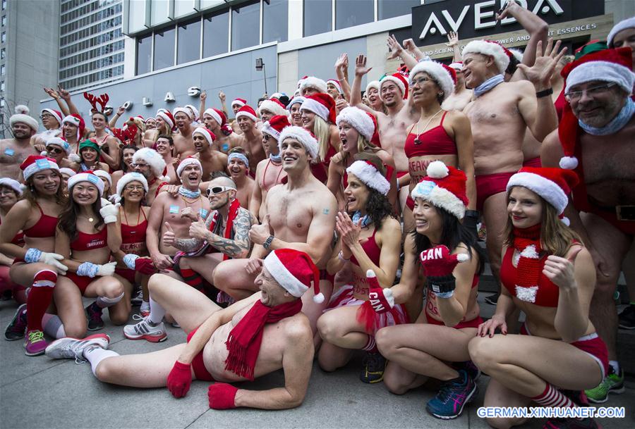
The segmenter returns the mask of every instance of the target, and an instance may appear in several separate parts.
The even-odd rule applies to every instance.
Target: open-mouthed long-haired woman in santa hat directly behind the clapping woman
[[[390,183],[388,201],[392,206],[395,206],[397,178],[394,175],[394,159],[387,151],[370,142],[375,133],[375,122],[370,118],[370,114],[361,108],[349,106],[341,110],[335,122],[339,128],[341,149],[331,158],[327,187],[337,198],[339,208],[344,209],[346,205],[344,189],[349,185],[346,168],[349,168],[353,163],[353,157],[362,152],[375,154],[381,159],[387,170],[387,179]]]

